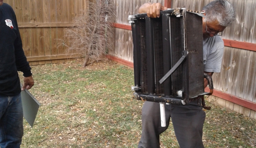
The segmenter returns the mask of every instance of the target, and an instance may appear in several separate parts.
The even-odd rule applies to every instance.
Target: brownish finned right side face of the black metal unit
[[[186,26],[185,50],[188,51],[188,57],[184,63],[182,97],[184,95],[186,103],[189,103],[189,98],[204,93],[203,35],[201,35],[203,30],[200,16],[188,12],[184,13],[183,18]]]

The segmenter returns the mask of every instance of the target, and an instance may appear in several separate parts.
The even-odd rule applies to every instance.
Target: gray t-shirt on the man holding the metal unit
[[[218,35],[203,39],[203,64],[205,72],[221,72],[224,42]]]

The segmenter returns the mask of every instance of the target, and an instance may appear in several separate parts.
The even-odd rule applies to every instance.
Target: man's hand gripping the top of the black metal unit
[[[167,8],[162,6],[161,3],[144,3],[139,9],[138,13],[147,13],[148,17],[156,18],[160,17],[160,11]]]

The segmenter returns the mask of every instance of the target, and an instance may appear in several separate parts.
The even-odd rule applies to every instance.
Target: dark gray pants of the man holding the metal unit
[[[142,134],[138,148],[159,148],[159,135],[168,128],[170,117],[180,148],[204,148],[205,112],[201,106],[165,104],[166,127],[161,127],[159,103],[147,101],[142,107]]]

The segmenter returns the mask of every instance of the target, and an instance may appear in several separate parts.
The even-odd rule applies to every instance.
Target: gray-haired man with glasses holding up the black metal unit
[[[167,9],[161,3],[145,3],[138,13],[159,17]],[[203,7],[203,64],[204,73],[212,76],[221,72],[224,42],[219,35],[235,20],[233,6],[226,0],[215,0]],[[204,86],[207,86],[205,79]],[[142,107],[142,134],[138,148],[159,148],[159,135],[169,125],[170,117],[180,148],[203,148],[205,112],[198,100],[189,105],[165,105],[166,127],[161,127],[159,103],[145,102]]]

